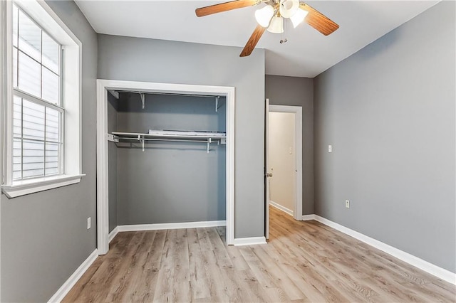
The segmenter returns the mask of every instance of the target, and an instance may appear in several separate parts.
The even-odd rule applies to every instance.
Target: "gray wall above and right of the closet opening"
[[[98,35],[98,78],[236,87],[236,238],[264,235],[264,50]]]

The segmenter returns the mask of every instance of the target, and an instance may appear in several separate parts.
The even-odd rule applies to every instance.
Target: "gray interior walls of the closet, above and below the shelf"
[[[110,95],[110,94],[108,94]],[[109,100],[113,97],[109,97]],[[108,102],[108,132],[225,132],[220,97],[120,92]],[[115,120],[115,121],[111,121]],[[225,220],[226,145],[198,142],[109,143],[109,229],[117,225]],[[115,176],[114,176],[115,175]],[[112,221],[112,222],[111,222]]]

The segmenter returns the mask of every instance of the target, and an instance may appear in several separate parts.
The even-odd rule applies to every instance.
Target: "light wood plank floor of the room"
[[[267,245],[224,228],[119,233],[63,302],[455,302],[456,287],[270,208]]]

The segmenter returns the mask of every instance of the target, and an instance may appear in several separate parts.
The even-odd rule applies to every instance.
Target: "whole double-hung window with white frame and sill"
[[[44,1],[5,1],[2,191],[14,198],[81,180],[81,42]]]

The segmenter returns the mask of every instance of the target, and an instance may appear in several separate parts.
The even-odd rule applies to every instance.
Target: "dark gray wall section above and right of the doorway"
[[[314,79],[266,75],[270,105],[302,107],[302,214],[314,213]]]

